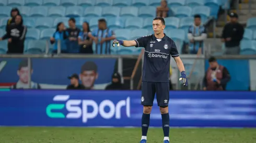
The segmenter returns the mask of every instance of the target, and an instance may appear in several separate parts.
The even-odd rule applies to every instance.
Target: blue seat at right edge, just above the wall
[[[256,54],[256,42],[251,40],[242,40],[240,42],[240,55],[254,55]]]

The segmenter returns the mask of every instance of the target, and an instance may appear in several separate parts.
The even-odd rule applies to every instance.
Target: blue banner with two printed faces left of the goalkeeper
[[[32,89],[66,89],[67,78],[76,73],[87,89],[104,89],[111,83],[117,59],[56,58],[31,59]],[[27,58],[0,58],[0,88],[28,89],[29,67]]]

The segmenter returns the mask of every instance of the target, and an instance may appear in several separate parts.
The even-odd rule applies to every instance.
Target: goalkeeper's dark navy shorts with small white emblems
[[[153,106],[155,94],[158,106],[168,106],[169,83],[142,82],[141,104],[143,106]]]

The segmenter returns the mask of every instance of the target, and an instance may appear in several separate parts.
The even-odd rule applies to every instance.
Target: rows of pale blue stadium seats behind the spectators
[[[193,23],[193,16],[201,15],[203,23],[211,18],[217,18],[218,11],[226,0],[168,0],[170,17],[166,20],[167,35],[178,41],[179,49],[188,41],[187,30]],[[84,21],[89,22],[91,30],[98,27],[98,19],[105,18],[108,27],[115,31],[117,38],[131,40],[138,36],[153,33],[150,22],[156,16],[159,0],[6,0],[0,1],[0,34],[3,35],[10,10],[17,7],[24,17],[24,25],[28,28],[26,53],[41,53],[42,46],[35,43],[48,40],[53,34],[58,22],[64,22],[68,27],[68,18],[74,17],[78,28]],[[244,40],[256,40],[256,18],[247,21]],[[131,31],[132,30],[132,31]],[[177,32],[179,34],[171,34]],[[254,42],[254,41],[253,41]],[[253,43],[249,42],[249,43]],[[46,42],[44,42],[46,43]],[[250,48],[242,42],[241,49]],[[32,44],[32,46],[30,45]],[[45,44],[44,44],[45,45]],[[245,47],[243,47],[245,46]],[[1,42],[1,53],[6,47]],[[3,48],[4,47],[4,48]],[[132,54],[137,49],[111,49],[115,54]],[[119,51],[120,50],[120,51]],[[251,48],[255,50],[255,46]],[[247,52],[243,52],[245,54]]]

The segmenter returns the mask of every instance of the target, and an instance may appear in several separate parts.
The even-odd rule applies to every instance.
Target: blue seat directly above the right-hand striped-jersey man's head
[[[192,9],[192,16],[200,15],[202,21],[208,19],[211,9],[207,6],[196,6]]]

